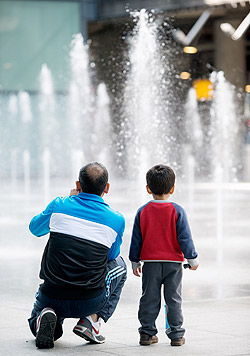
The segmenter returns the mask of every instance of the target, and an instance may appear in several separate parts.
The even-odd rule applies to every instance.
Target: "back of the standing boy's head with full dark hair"
[[[153,194],[168,194],[175,183],[175,173],[172,168],[158,164],[147,172],[146,180]]]

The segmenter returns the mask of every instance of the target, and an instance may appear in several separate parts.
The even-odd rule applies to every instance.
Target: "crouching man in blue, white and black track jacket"
[[[73,332],[103,343],[101,319],[113,314],[127,277],[120,254],[123,216],[103,200],[108,172],[100,163],[84,166],[69,196],[54,199],[30,222],[35,236],[50,234],[29,326],[38,348],[52,348],[65,318],[79,318]]]

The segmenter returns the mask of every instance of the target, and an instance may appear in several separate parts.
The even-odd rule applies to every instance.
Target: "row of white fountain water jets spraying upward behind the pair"
[[[204,140],[208,141],[207,130],[211,171],[222,166],[224,180],[237,180],[239,123],[233,107],[233,88],[225,81],[223,73],[212,74],[215,90],[209,127],[202,127],[194,88],[190,88],[183,104],[182,117],[175,116],[173,113],[178,109],[179,101],[175,99],[177,95],[171,85],[171,54],[166,48],[166,38],[160,37],[159,25],[152,13],[141,10],[132,16],[135,27],[128,38],[129,55],[125,60],[130,70],[124,90],[124,120],[120,130],[121,142],[115,154],[126,157],[127,172],[134,172],[133,179],[140,181],[149,166],[164,162],[178,173],[184,171],[181,176],[189,177],[193,184],[194,175],[196,179],[201,178],[199,167],[203,160]],[[47,150],[52,177],[65,170],[69,176],[75,177],[78,167],[91,160],[113,164],[110,158],[111,147],[114,147],[110,100],[105,83],[98,83],[95,73],[93,81],[88,50],[82,35],[75,35],[69,52],[71,80],[63,100],[60,101],[55,92],[52,73],[46,64],[39,77],[39,105],[37,96],[24,91],[9,97],[7,114],[10,123],[6,130],[11,130],[8,130],[6,140],[10,142],[7,150],[12,162],[13,185],[17,172],[20,172],[14,167],[24,150],[30,152],[31,175],[39,172],[39,162]],[[19,118],[21,131],[17,127]],[[36,132],[34,137],[33,132]]]

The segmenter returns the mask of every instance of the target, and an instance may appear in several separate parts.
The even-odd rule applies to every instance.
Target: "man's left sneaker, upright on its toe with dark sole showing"
[[[44,308],[37,318],[36,347],[51,349],[54,347],[54,332],[56,328],[56,313],[51,308]]]

